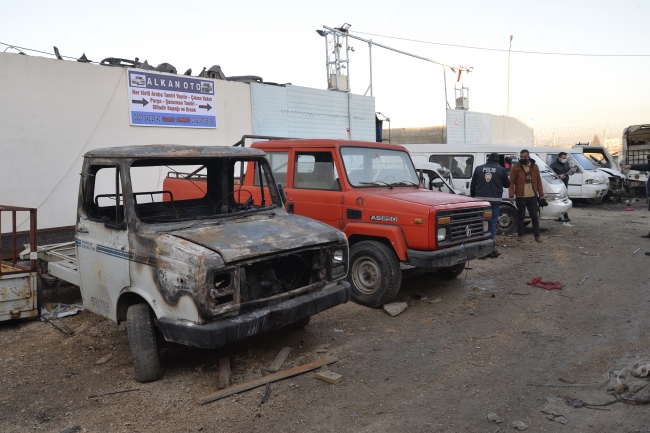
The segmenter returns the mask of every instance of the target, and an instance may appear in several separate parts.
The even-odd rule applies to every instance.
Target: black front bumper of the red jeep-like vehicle
[[[480,259],[494,251],[492,239],[457,245],[437,251],[407,250],[409,265],[418,268],[448,268],[472,259]]]

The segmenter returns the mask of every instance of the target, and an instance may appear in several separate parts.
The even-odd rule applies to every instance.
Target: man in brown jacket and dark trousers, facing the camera
[[[528,215],[533,220],[533,233],[535,242],[542,243],[539,235],[539,211],[538,199],[543,199],[544,188],[542,186],[542,176],[539,174],[539,168],[535,160],[530,158],[528,150],[523,149],[519,152],[519,162],[510,170],[510,203],[516,203],[517,206],[517,233],[519,242],[524,240],[524,217],[526,209]]]

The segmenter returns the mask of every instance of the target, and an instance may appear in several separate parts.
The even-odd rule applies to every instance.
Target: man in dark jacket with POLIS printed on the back
[[[508,188],[509,186],[510,179],[508,179],[506,169],[499,165],[498,153],[491,153],[488,155],[486,164],[479,165],[474,169],[469,195],[490,202],[492,205],[492,230],[490,232],[490,239],[494,239],[494,235],[497,232],[497,219],[499,218],[499,209],[501,208],[503,188]],[[493,255],[496,257],[498,253],[496,255],[493,253]]]

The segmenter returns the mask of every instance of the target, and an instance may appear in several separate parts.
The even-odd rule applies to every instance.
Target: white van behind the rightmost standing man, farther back
[[[560,152],[567,153],[569,165],[577,170],[575,174],[569,176],[569,197],[572,199],[580,198],[592,203],[600,203],[609,192],[609,175],[599,170],[600,167],[596,162],[583,153],[582,146],[577,148],[533,146],[528,150],[539,155],[549,166],[557,159]]]

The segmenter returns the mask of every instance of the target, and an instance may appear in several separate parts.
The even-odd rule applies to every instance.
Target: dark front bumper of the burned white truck
[[[350,295],[350,284],[341,281],[317,292],[205,325],[163,317],[158,319],[158,326],[167,341],[215,349],[344,304]]]

